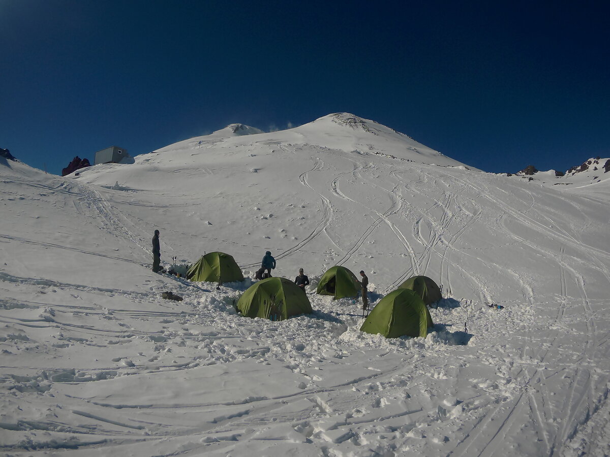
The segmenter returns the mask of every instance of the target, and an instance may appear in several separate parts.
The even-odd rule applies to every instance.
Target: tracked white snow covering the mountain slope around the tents
[[[4,455],[610,453],[610,181],[484,173],[347,113],[134,160],[0,163]],[[152,273],[155,228],[165,266],[221,250],[248,279]],[[314,314],[235,313],[265,250]],[[334,264],[373,303],[442,284],[431,333],[361,333],[314,293]]]

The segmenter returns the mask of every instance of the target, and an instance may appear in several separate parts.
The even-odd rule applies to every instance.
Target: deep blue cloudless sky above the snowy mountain
[[[486,171],[565,170],[610,156],[609,5],[0,0],[0,147],[59,174],[351,112]]]

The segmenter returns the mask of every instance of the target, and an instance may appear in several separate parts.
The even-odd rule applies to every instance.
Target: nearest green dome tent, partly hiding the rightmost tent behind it
[[[432,316],[423,300],[409,289],[390,292],[377,303],[360,330],[386,338],[428,335]]]

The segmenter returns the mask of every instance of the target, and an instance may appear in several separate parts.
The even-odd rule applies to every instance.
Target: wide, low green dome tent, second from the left
[[[289,279],[279,277],[267,278],[250,286],[237,302],[237,309],[242,316],[272,321],[314,312],[307,294]]]

